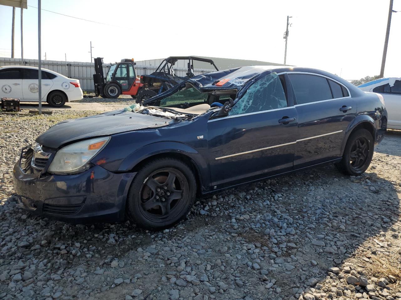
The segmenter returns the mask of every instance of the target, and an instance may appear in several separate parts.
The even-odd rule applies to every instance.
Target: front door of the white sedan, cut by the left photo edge
[[[0,70],[0,98],[22,100],[22,72],[20,68]]]

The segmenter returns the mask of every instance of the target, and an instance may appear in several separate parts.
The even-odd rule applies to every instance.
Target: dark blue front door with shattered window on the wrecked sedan
[[[283,84],[284,75],[267,74],[247,89],[228,116],[208,121],[214,188],[292,170],[297,114]]]

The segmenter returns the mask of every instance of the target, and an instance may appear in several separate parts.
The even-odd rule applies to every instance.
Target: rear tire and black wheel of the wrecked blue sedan
[[[373,157],[374,141],[366,129],[358,129],[347,140],[342,160],[336,164],[346,175],[358,176],[369,167]]]

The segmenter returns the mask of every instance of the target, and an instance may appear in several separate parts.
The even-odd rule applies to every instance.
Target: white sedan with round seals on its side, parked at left
[[[38,68],[0,67],[0,98],[19,98],[21,102],[39,102]],[[42,69],[42,101],[61,107],[83,97],[79,80]]]

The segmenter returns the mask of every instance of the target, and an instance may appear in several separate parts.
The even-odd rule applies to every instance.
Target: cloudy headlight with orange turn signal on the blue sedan
[[[109,142],[110,137],[91,138],[57,151],[49,169],[52,174],[76,174],[90,168],[89,161]]]

